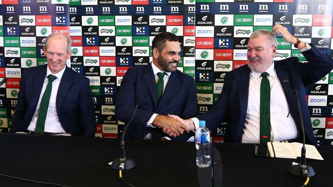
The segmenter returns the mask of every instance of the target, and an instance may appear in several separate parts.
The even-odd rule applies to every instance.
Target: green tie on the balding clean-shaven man
[[[46,86],[46,89],[44,91],[43,97],[41,98],[40,105],[39,105],[39,112],[38,112],[38,118],[35,128],[35,134],[43,134],[44,133],[44,126],[45,126],[45,120],[46,120],[46,114],[48,112],[49,108],[49,102],[50,102],[50,96],[52,91],[52,82],[57,79],[54,75],[49,75],[49,82]]]

